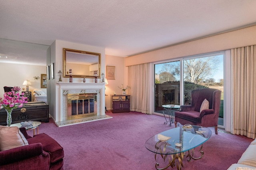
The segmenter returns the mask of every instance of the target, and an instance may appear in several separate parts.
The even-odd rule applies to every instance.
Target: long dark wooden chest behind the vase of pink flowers
[[[0,109],[0,125],[7,125],[6,118],[6,110]],[[45,102],[28,102],[12,111],[12,124],[28,120],[49,122],[49,105]]]

